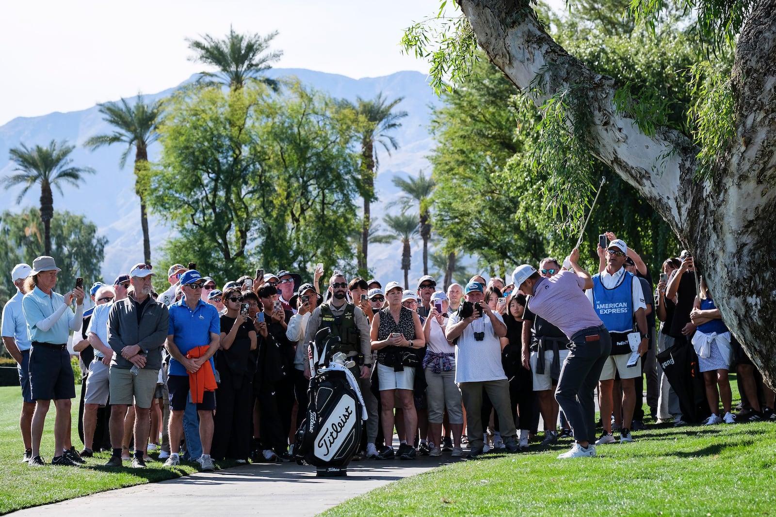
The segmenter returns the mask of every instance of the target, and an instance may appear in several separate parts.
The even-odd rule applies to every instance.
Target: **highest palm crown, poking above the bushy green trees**
[[[237,34],[229,27],[229,34],[223,40],[206,34],[202,36],[203,41],[186,39],[186,42],[196,52],[196,56],[190,57],[190,60],[218,69],[217,72],[202,72],[202,78],[215,78],[216,82],[228,84],[233,90],[242,88],[248,78],[255,78],[277,91],[277,81],[260,77],[272,68],[270,63],[283,55],[282,50],[268,51],[269,43],[277,35],[278,31],[264,37],[259,34]]]

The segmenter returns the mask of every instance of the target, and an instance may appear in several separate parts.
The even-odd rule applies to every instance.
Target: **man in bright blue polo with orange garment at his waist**
[[[191,389],[189,374],[195,374],[201,367],[210,367],[213,370],[213,354],[218,350],[220,343],[221,323],[218,311],[213,305],[201,299],[204,284],[205,281],[199,272],[186,271],[181,277],[183,298],[170,306],[169,334],[165,345],[171,355],[167,381],[170,391],[171,454],[165,462],[167,467],[180,464],[178,452],[183,433],[183,413],[186,408],[186,397]],[[204,353],[196,358],[189,357],[202,346],[208,347]],[[192,391],[192,398],[194,395]],[[210,442],[213,439],[215,391],[204,391],[202,401],[197,402],[196,406],[199,415],[199,439],[202,441],[202,457],[198,461],[203,470],[213,470]]]

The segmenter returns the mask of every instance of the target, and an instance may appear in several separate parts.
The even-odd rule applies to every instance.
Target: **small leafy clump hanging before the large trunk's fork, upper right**
[[[690,110],[698,129],[693,136],[698,143],[698,168],[695,179],[710,181],[717,157],[736,138],[735,98],[729,67],[701,61],[691,68],[698,100]]]

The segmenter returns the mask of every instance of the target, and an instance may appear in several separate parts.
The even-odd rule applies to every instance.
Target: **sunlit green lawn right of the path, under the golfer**
[[[731,375],[737,398],[735,377]],[[649,414],[649,413],[647,413]],[[776,515],[776,425],[650,426],[598,456],[571,440],[408,477],[323,515]],[[615,437],[616,437],[615,433]]]

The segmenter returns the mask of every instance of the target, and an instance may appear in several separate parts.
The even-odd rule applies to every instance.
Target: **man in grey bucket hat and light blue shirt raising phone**
[[[45,464],[40,457],[40,439],[43,437],[43,425],[52,400],[57,408],[57,418],[54,420],[55,448],[51,464],[74,466],[70,455],[63,454],[65,442],[70,442],[71,398],[75,398],[68,336],[71,330],[81,328],[84,290],[76,287],[64,296],[54,292],[59,271],[62,270],[52,257],[43,256],[33,260],[33,270],[29,272],[27,281],[27,287],[31,289],[22,300],[22,310],[32,342],[29,382],[35,399],[35,412],[31,429],[33,450],[29,465],[33,467]],[[75,312],[70,308],[73,299],[76,302]],[[71,443],[70,450],[78,455]]]

